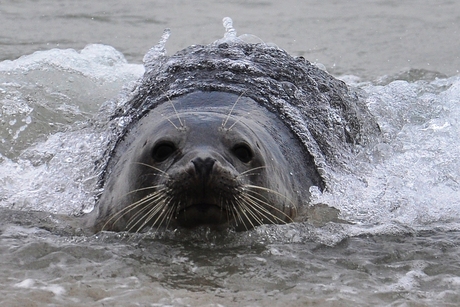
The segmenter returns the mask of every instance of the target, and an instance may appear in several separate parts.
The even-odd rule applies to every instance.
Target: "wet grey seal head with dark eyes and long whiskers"
[[[308,188],[313,159],[275,114],[225,92],[194,92],[140,119],[118,144],[94,230],[287,223]]]

